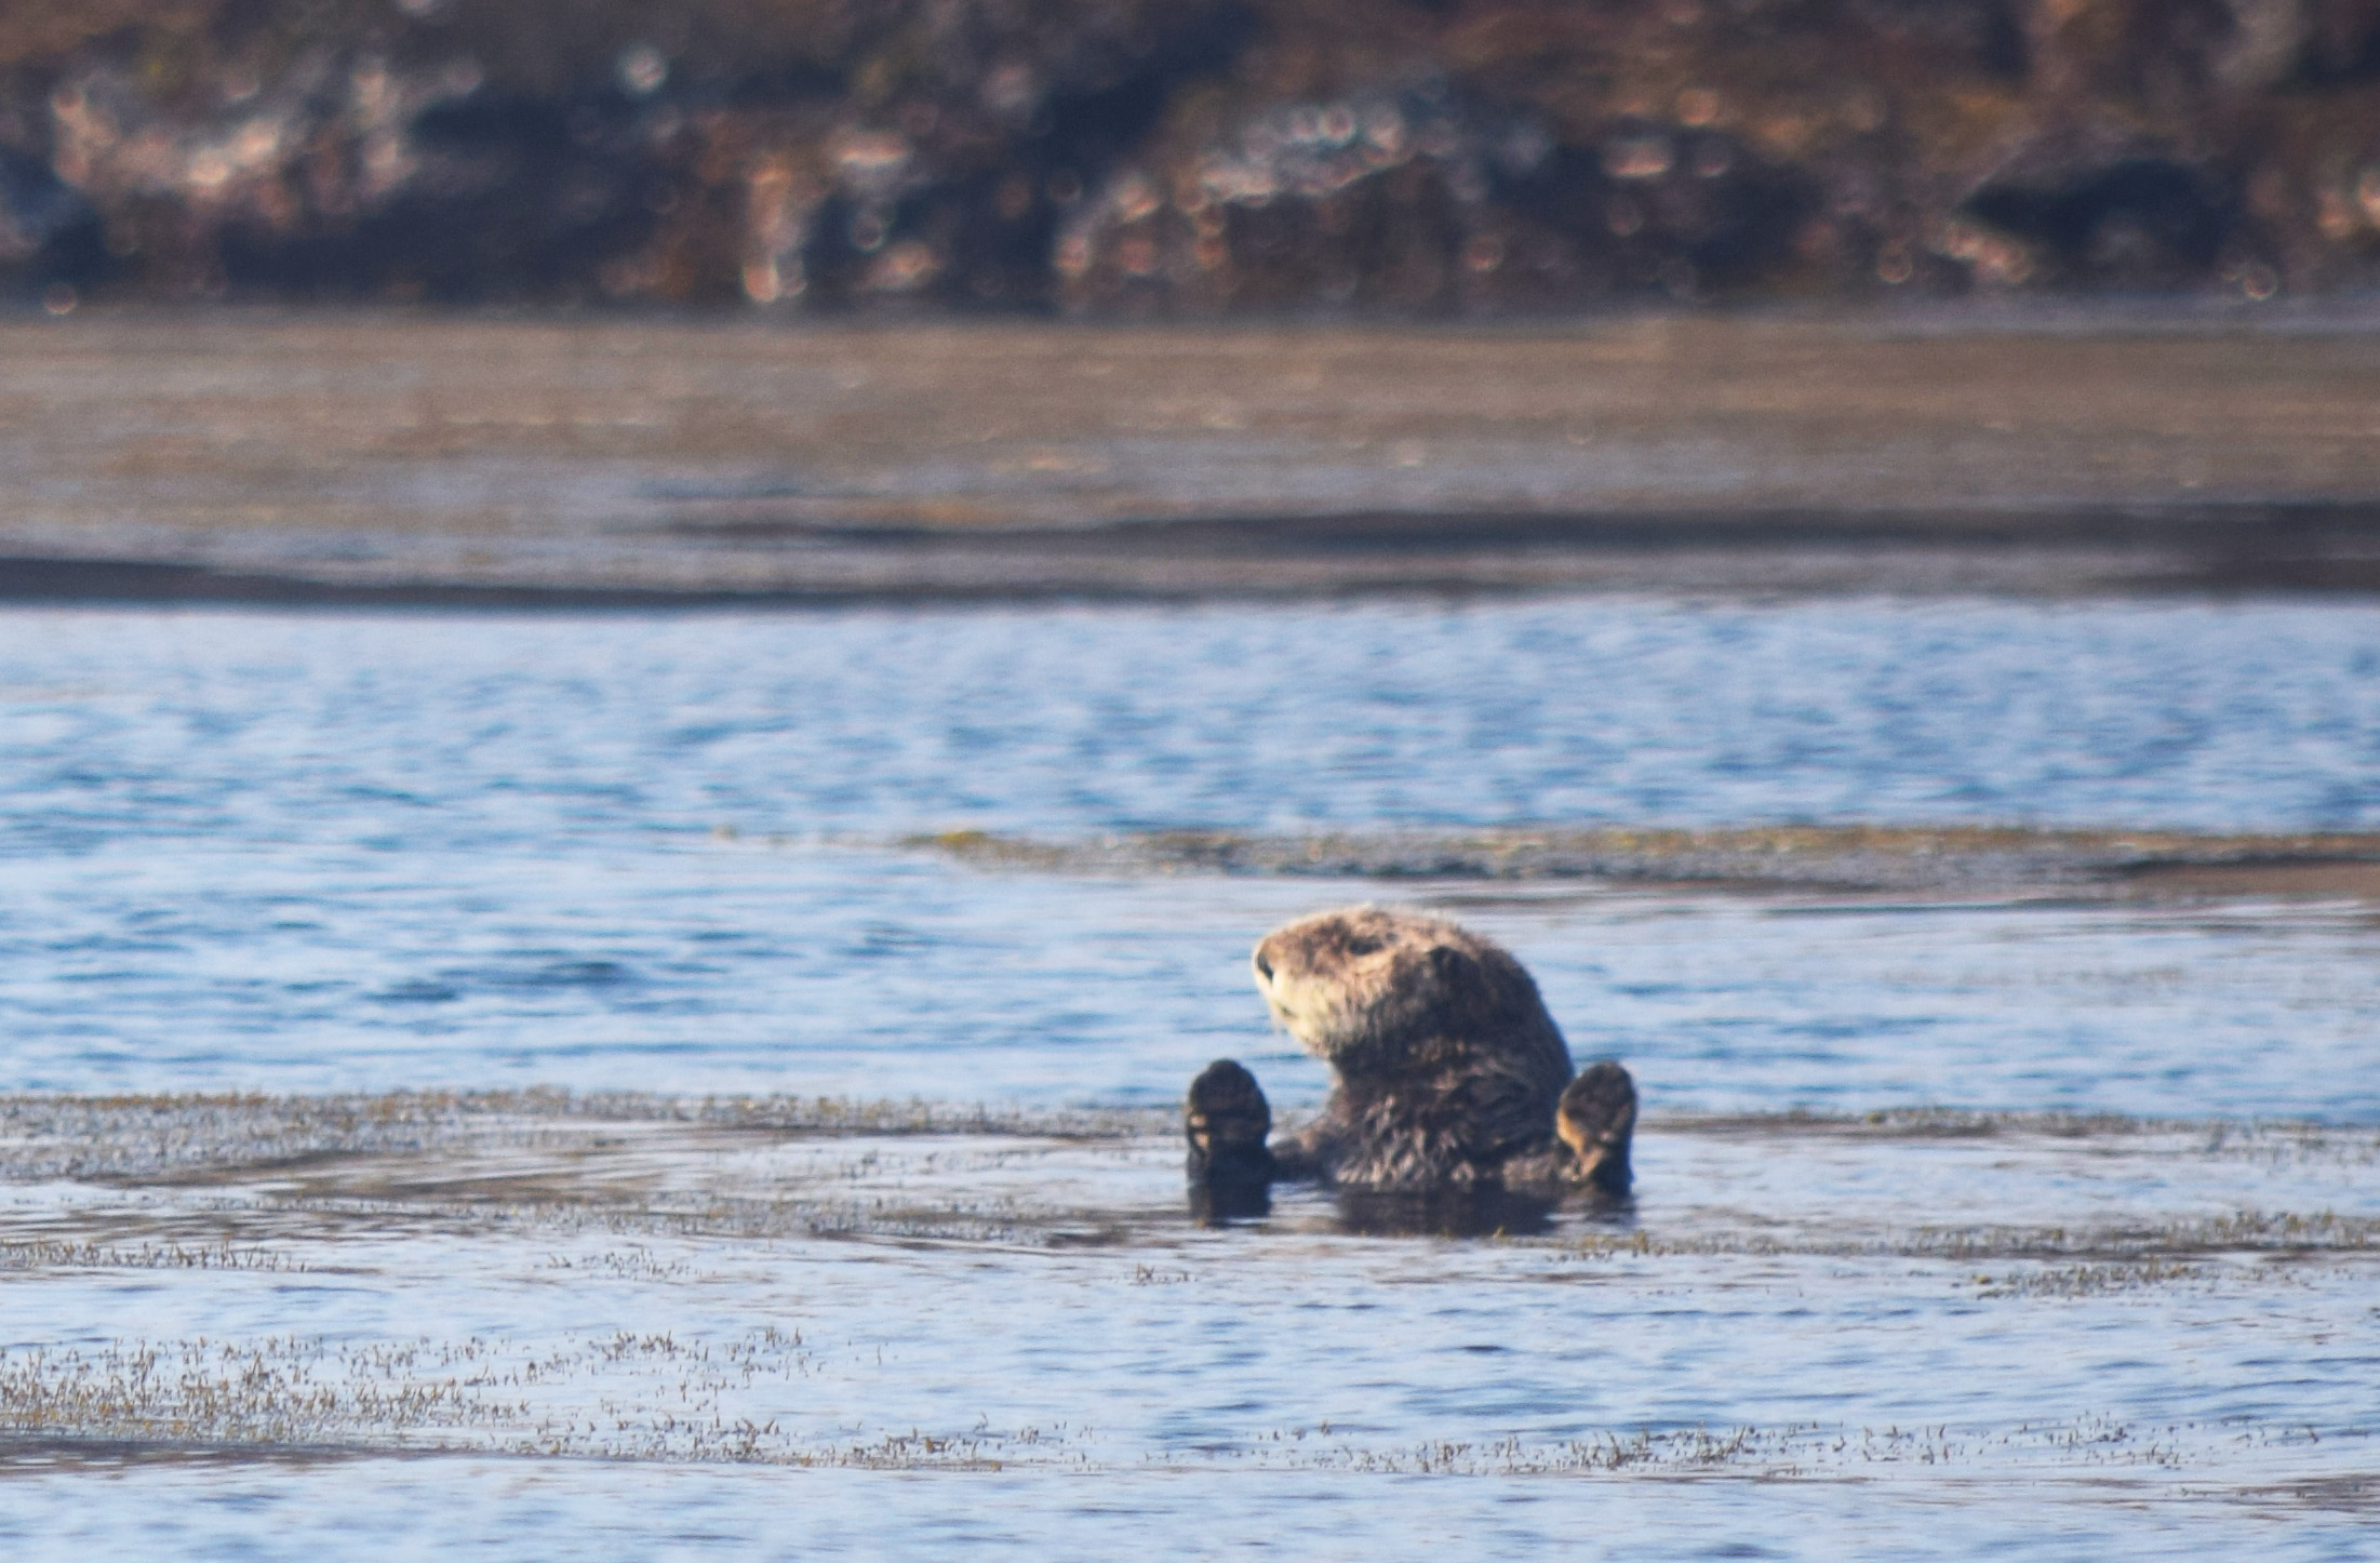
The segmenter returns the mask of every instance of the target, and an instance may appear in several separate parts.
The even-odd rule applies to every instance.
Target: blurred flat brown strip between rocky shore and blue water
[[[2380,331],[0,324],[5,600],[2380,590]]]

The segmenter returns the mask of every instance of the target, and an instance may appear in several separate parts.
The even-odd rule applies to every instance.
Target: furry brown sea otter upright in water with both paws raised
[[[1257,1078],[1219,1059],[1190,1085],[1190,1180],[1247,1192],[1283,1178],[1357,1189],[1626,1194],[1635,1082],[1571,1078],[1537,985],[1502,947],[1409,911],[1347,906],[1264,935],[1273,1018],[1338,1073],[1323,1113],[1266,1142]]]

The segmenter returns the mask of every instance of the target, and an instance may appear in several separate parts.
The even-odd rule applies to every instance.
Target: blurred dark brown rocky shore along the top
[[[1095,316],[2380,278],[2380,0],[12,0],[0,285]]]

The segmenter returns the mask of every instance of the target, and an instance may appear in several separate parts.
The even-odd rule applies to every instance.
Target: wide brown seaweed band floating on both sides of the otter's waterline
[[[676,1282],[697,1278],[702,1266],[669,1268],[683,1261],[635,1258],[638,1249],[828,1239],[1054,1256],[1135,1247],[1171,1254],[1188,1242],[1178,1128],[1169,1113],[935,1111],[928,1121],[940,1132],[928,1135],[916,1132],[914,1104],[881,1109],[838,1101],[819,1113],[814,1099],[588,1101],[562,1092],[12,1097],[0,1099],[0,1123],[14,1130],[0,1140],[0,1175],[21,1168],[19,1182],[55,1187],[26,1189],[17,1230],[0,1237],[0,1273],[336,1273],[378,1266],[386,1254],[386,1247],[340,1247],[347,1242],[469,1237],[593,1239],[578,1247],[621,1256],[621,1278]],[[888,1128],[866,1135],[852,1123]],[[393,1137],[383,1137],[390,1125]],[[290,1159],[300,1135],[309,1154]],[[2199,1280],[2228,1287],[2254,1280],[2249,1270],[2363,1266],[2380,1254],[2380,1216],[2318,1209],[2340,1199],[2342,1173],[2351,1185],[2363,1168],[2380,1166],[2375,1128],[1933,1109],[1654,1118],[1642,1137],[1668,1140],[1683,1151],[1680,1166],[1704,1170],[1664,1185],[1626,1223],[1557,1206],[1526,1220],[1497,1211],[1476,1223],[1440,1216],[1380,1223],[1345,1197],[1316,1197],[1290,1199],[1269,1228],[1290,1239],[1390,1230],[1490,1237],[1545,1254],[1552,1280],[1583,1275],[1573,1261],[1709,1256],[1921,1261],[1944,1266],[1944,1280],[2004,1278],[2009,1266],[2132,1266],[2113,1278],[2123,1285],[2163,1285],[2178,1278],[2178,1266],[2204,1266]],[[1968,1170],[1978,1159],[1992,1166],[2013,1159],[2035,1173],[2075,1168],[2097,1178],[2113,1168],[2159,1180],[2171,1173],[2206,1182],[2221,1204],[2109,1211],[2085,1201],[2018,1216],[1975,1199],[1956,1209],[1854,1199],[1840,1211],[1785,1213],[1761,1194],[1740,1211],[1733,1201],[1745,1194],[1730,1194],[1723,1173],[1714,1182],[1711,1168],[1745,1156],[1911,1170],[1918,1168],[1894,1159],[1918,1156],[1933,1168],[1928,1175],[1940,1175],[1942,1159]],[[2209,1178],[2213,1163],[2259,1175],[2313,1173],[2316,1182],[2301,1194],[2259,1182],[2254,1194],[2235,1178]],[[126,1187],[140,1192],[114,1192]],[[2251,1209],[2259,1199],[2266,1209]],[[2056,1282],[2023,1285],[2042,1294]]]

